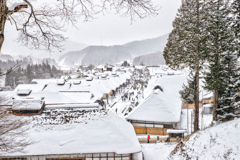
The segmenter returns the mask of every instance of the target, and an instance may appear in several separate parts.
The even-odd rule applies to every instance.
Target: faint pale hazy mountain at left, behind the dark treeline
[[[27,47],[24,46],[19,46],[15,44],[16,42],[12,43],[4,43],[3,48],[2,48],[2,53],[4,54],[9,54],[12,56],[17,56],[17,55],[23,55],[23,56],[34,56],[37,58],[54,58],[54,59],[59,59],[61,55],[63,55],[66,52],[69,51],[76,51],[76,50],[82,50],[88,45],[82,44],[82,43],[77,43],[73,42],[70,40],[67,40],[64,43],[64,50],[62,52],[59,52],[58,50],[53,50],[53,52],[49,53],[45,50],[31,50]]]

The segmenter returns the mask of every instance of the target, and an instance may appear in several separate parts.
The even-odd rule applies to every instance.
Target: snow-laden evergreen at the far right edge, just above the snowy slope
[[[227,121],[236,117],[240,104],[238,90],[240,88],[240,68],[237,65],[237,52],[226,54],[222,58],[221,77],[223,86],[219,91],[218,108],[216,109],[217,119]]]

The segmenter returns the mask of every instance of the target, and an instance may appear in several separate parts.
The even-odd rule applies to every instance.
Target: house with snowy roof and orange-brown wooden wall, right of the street
[[[136,134],[168,135],[167,129],[177,129],[181,115],[179,90],[185,81],[185,76],[165,76],[149,85],[152,89],[162,86],[163,91],[156,89],[144,95],[146,99],[126,117]]]

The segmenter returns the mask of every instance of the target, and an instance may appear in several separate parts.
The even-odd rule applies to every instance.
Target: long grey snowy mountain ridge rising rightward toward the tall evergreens
[[[80,51],[71,51],[59,58],[61,65],[73,64],[114,64],[124,60],[132,60],[136,56],[163,51],[168,34],[142,41],[134,41],[115,46],[89,46]]]

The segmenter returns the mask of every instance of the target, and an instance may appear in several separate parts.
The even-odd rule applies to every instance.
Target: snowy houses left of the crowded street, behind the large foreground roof
[[[115,93],[129,79],[130,74],[123,72],[68,80],[33,79],[31,84],[20,84],[8,94],[13,100],[11,109],[14,113],[39,114],[43,108],[99,108],[103,107],[99,102]]]

